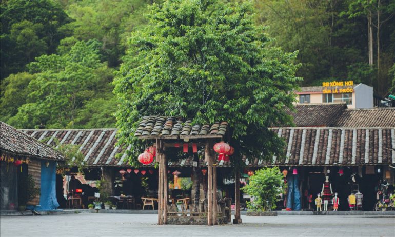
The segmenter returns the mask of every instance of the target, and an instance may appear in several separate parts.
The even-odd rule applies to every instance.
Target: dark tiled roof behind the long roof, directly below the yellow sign
[[[342,112],[346,104],[301,104],[295,106],[296,111],[287,109],[297,127],[329,127]],[[395,126],[394,126],[395,127]]]

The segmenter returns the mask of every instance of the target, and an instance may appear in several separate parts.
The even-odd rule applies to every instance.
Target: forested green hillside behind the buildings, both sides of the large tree
[[[147,6],[162,2],[2,1],[0,120],[18,128],[114,127],[112,82],[139,63],[128,38],[149,27]],[[353,80],[379,96],[395,90],[395,0],[256,0],[254,7],[271,47],[299,51],[302,85]]]

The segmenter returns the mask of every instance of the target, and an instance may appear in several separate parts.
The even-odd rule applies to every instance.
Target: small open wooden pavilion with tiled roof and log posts
[[[171,147],[199,146],[204,149],[204,159],[207,164],[207,225],[217,225],[218,216],[216,203],[216,155],[213,151],[215,142],[223,141],[227,135],[227,122],[215,122],[211,125],[191,125],[192,120],[182,118],[148,116],[143,117],[134,136],[139,139],[154,140],[156,146],[156,162],[159,164],[158,184],[158,225],[168,224],[168,157],[166,149]],[[182,143],[182,145],[181,145]],[[195,144],[195,145],[192,145]],[[239,175],[236,172],[236,180]],[[236,215],[240,223],[239,182],[236,186]]]

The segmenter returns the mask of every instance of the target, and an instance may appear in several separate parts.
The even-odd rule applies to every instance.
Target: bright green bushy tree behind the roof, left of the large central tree
[[[108,97],[111,90],[112,72],[100,62],[97,41],[77,42],[70,51],[58,55],[42,55],[28,65],[34,77],[29,82],[26,103],[9,119],[15,127],[34,128],[40,124],[55,128],[73,128],[78,112],[84,116],[92,111],[93,98]],[[107,102],[107,110],[111,114]],[[96,103],[97,105],[97,103]],[[115,106],[112,111],[115,110]],[[103,113],[104,110],[97,110]],[[86,116],[86,115],[85,115]],[[102,122],[106,123],[106,118]],[[98,125],[101,121],[98,121]],[[79,118],[77,123],[92,123]],[[76,127],[82,125],[77,124]]]

